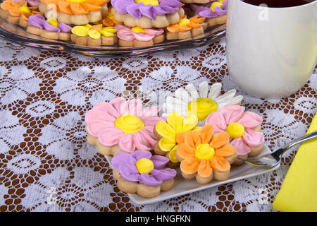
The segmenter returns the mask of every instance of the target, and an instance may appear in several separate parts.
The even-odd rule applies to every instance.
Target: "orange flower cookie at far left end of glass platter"
[[[6,0],[1,3],[0,16],[10,23],[27,27],[27,18],[33,14],[42,14],[37,11],[37,6],[27,6],[27,1]]]

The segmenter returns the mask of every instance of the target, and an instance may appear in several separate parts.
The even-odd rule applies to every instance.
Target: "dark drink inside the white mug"
[[[301,6],[304,4],[309,4],[315,0],[243,0],[243,1],[255,6],[266,4],[266,6],[271,8],[282,8],[282,7]]]

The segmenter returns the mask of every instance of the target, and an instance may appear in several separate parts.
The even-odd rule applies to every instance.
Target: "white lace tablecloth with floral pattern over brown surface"
[[[279,169],[149,205],[120,192],[106,158],[86,142],[85,112],[123,95],[151,101],[201,81],[244,95],[263,117],[274,150],[304,135],[317,111],[317,73],[294,95],[251,97],[228,75],[225,40],[199,49],[131,58],[92,58],[22,47],[0,39],[1,211],[273,211],[297,148]]]

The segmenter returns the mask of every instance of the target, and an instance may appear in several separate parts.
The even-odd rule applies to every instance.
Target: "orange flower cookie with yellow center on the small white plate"
[[[199,184],[211,182],[213,178],[223,181],[230,176],[230,163],[235,160],[235,147],[228,145],[227,132],[213,134],[213,126],[206,125],[199,131],[185,133],[176,157],[185,179],[196,177]]]

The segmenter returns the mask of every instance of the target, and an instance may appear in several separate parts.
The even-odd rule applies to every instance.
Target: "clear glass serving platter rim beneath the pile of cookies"
[[[94,57],[129,57],[155,52],[196,48],[215,42],[220,37],[224,36],[225,24],[207,28],[203,35],[186,40],[165,40],[164,42],[154,44],[151,47],[120,47],[119,45],[87,47],[75,45],[73,42],[49,40],[44,37],[32,35],[26,32],[25,28],[9,23],[0,16],[0,37],[4,37],[4,39],[10,42],[39,49],[55,49]]]

